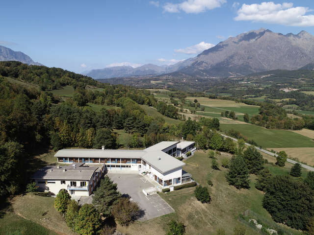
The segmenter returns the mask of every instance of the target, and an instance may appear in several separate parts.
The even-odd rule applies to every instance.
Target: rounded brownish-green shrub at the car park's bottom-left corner
[[[130,198],[122,197],[113,205],[112,214],[114,218],[122,225],[127,226],[134,221],[140,212],[136,202],[130,201]]]

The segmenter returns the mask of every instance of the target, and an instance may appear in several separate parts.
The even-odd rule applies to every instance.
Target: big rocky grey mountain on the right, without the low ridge
[[[296,70],[314,61],[314,36],[306,31],[283,35],[259,29],[230,37],[180,70],[200,77],[242,76],[268,70]]]

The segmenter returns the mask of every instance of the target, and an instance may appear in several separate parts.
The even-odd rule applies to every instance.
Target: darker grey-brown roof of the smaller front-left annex
[[[66,169],[63,171],[63,169]],[[43,180],[90,180],[95,171],[98,171],[99,167],[84,167],[79,166],[73,168],[72,165],[57,166],[47,165],[44,168],[38,170],[31,178],[43,179]]]

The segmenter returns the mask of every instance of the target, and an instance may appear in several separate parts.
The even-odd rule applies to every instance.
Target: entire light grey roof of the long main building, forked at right
[[[141,158],[159,172],[166,173],[185,165],[185,163],[162,151],[177,143],[179,141],[162,141],[144,150],[61,149],[54,156],[58,158]]]

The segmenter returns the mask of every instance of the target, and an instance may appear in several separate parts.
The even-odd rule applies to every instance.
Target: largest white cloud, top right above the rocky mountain
[[[243,4],[237,11],[236,21],[263,22],[289,26],[314,26],[314,15],[306,15],[309,7],[293,7],[293,3],[275,4],[272,1],[261,4]]]

